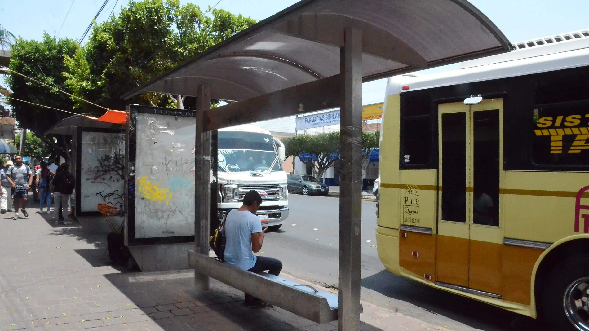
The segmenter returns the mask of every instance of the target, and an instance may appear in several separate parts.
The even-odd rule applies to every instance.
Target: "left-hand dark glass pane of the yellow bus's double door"
[[[466,113],[442,114],[442,220],[466,221]]]

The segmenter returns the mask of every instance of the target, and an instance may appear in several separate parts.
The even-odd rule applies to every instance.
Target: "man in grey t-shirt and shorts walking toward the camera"
[[[27,166],[27,164],[22,163],[22,156],[16,155],[15,157],[16,163],[12,166],[8,167],[6,171],[6,180],[11,185],[11,195],[14,204],[14,217],[13,220],[18,220],[18,207],[20,202],[22,201],[22,215],[24,217],[29,217],[27,213],[27,201],[28,201],[28,191],[31,189],[31,184],[33,181],[33,172],[31,168]]]

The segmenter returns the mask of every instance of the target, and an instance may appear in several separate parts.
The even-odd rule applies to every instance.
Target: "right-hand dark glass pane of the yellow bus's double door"
[[[472,223],[499,226],[499,111],[475,111]]]

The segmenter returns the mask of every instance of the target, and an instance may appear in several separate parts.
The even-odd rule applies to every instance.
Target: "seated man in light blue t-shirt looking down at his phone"
[[[250,272],[269,273],[278,276],[282,270],[282,262],[272,257],[255,256],[262,249],[264,232],[262,222],[256,211],[262,204],[260,193],[251,190],[243,197],[243,206],[229,211],[225,220],[225,263]],[[272,308],[273,304],[263,302],[246,293],[246,306],[255,308]]]

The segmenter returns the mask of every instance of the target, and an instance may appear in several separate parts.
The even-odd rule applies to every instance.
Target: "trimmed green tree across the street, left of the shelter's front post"
[[[322,178],[339,157],[339,132],[296,135],[285,138],[282,143],[285,154],[299,157],[302,163],[313,167],[317,178]]]

